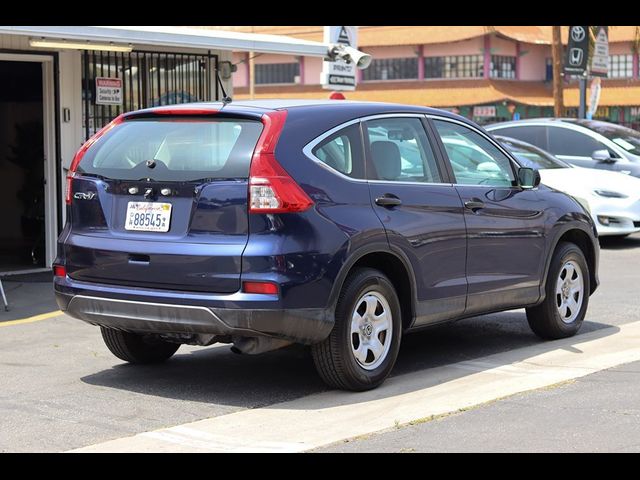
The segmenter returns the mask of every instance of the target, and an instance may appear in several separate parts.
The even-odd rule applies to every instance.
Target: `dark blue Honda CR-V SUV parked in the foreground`
[[[483,161],[463,172],[474,154],[454,140]],[[426,326],[525,307],[543,338],[578,331],[598,285],[595,227],[538,183],[481,128],[429,108],[129,112],[72,162],[56,298],[131,363],[180,344],[300,343],[327,384],[366,390]]]

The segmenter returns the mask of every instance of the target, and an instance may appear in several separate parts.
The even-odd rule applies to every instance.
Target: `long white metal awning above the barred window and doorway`
[[[84,27],[84,26],[0,26],[0,33],[52,39],[131,43],[163,46],[240,50],[324,57],[327,45],[281,35],[210,30],[190,27]]]

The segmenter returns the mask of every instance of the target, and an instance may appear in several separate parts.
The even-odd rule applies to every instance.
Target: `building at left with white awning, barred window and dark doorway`
[[[117,115],[221,99],[233,89],[233,52],[326,51],[315,40],[210,27],[0,26],[0,273],[51,266],[66,172]]]

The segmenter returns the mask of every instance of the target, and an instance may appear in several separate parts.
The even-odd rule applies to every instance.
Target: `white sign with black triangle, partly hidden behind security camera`
[[[358,27],[325,26],[324,43],[340,43],[358,48]],[[342,59],[322,62],[320,83],[327,90],[355,90],[357,69],[355,63]]]

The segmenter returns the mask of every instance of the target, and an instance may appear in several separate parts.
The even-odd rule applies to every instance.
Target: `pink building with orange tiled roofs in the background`
[[[225,27],[319,41],[323,27]],[[638,27],[609,27],[609,78],[594,118],[640,127]],[[358,48],[373,57],[360,71],[353,100],[446,108],[479,123],[553,116],[550,26],[361,26]],[[566,44],[568,27],[563,27]],[[234,54],[237,98],[249,97],[247,54]],[[326,96],[322,61],[293,55],[255,56],[255,98]],[[567,114],[579,105],[578,82],[567,81]]]

